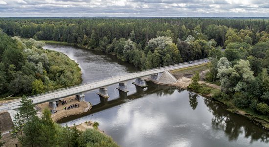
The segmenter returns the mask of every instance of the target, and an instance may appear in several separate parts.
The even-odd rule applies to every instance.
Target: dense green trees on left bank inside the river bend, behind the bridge
[[[77,63],[42,49],[44,45],[0,31],[0,97],[34,95],[81,83]]]

